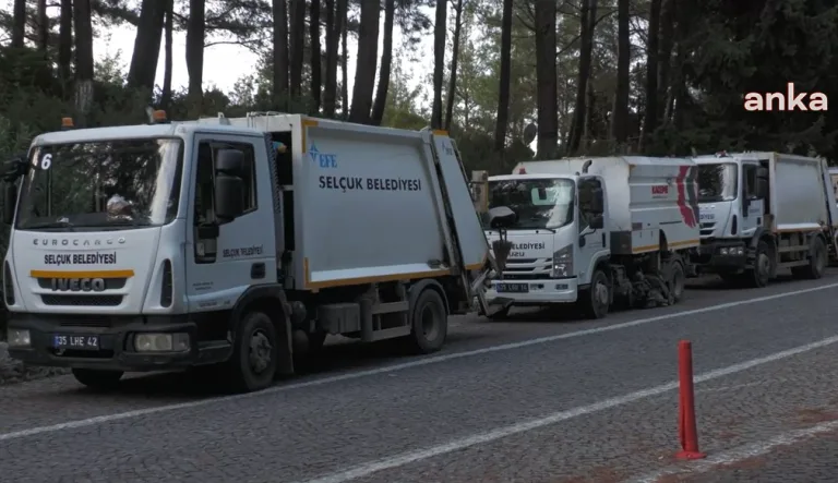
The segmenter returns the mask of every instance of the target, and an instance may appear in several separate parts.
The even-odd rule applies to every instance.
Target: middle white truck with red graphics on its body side
[[[696,166],[683,158],[599,157],[518,164],[488,180],[489,207],[507,207],[512,243],[490,304],[578,303],[590,318],[671,304],[698,246]],[[491,212],[491,209],[489,210]],[[487,228],[494,242],[498,230]]]

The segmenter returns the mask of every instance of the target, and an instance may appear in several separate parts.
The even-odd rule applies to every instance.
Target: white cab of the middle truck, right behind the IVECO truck
[[[517,214],[507,228],[511,250],[503,280],[492,281],[488,299],[514,305],[573,303],[580,290],[607,302],[603,282],[591,280],[609,255],[604,182],[598,176],[510,174],[489,178],[489,206]],[[499,233],[487,230],[490,241]],[[591,287],[591,283],[595,283]]]

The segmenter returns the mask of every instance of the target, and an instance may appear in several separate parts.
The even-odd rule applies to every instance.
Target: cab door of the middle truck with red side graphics
[[[606,196],[599,178],[579,180],[579,245],[575,262],[580,283],[590,280],[590,267],[600,252],[608,249]]]

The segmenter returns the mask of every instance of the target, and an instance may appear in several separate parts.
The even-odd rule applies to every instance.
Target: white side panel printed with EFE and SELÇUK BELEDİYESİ
[[[447,225],[421,133],[318,121],[303,138],[295,160],[300,288],[447,274]]]

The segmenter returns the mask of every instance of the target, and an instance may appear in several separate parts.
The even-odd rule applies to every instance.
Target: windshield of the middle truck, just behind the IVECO
[[[573,221],[575,184],[568,179],[489,182],[489,208],[506,206],[518,215],[511,229],[561,228]]]

